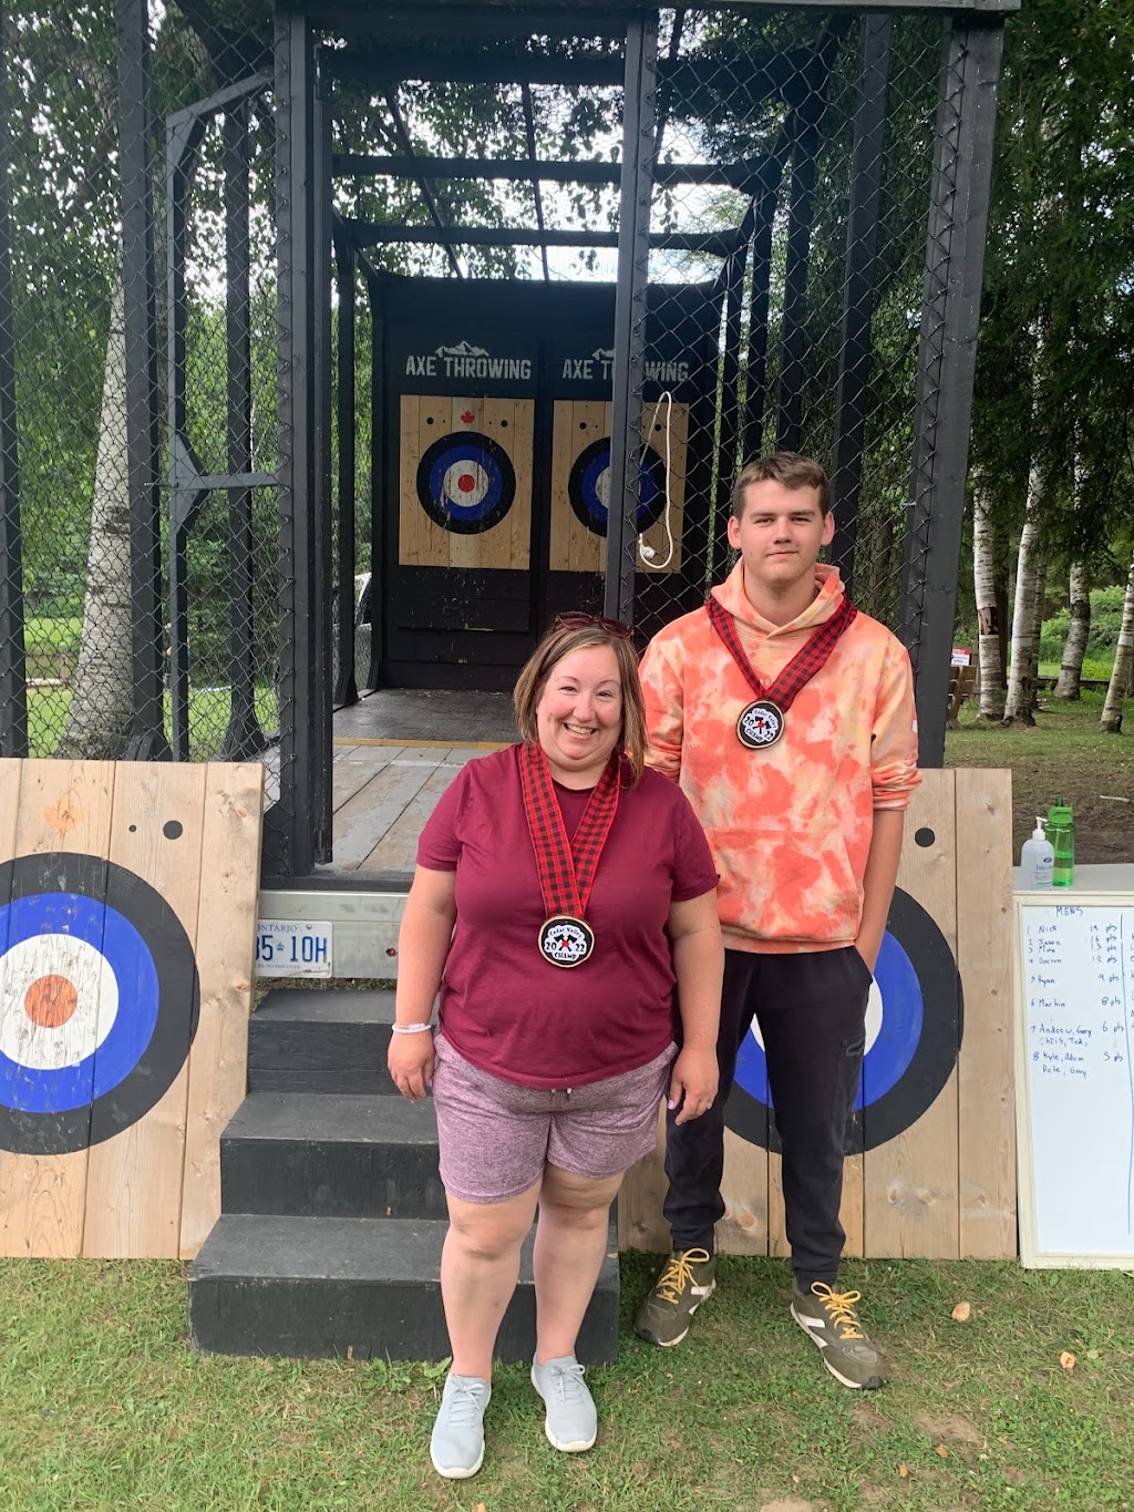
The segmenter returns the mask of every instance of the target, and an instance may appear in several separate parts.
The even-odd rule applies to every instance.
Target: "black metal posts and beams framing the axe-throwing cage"
[[[850,570],[854,547],[854,514],[860,485],[863,393],[868,381],[869,330],[874,299],[874,265],[878,221],[880,163],[886,130],[888,51],[891,18],[898,11],[936,12],[943,23],[943,57],[937,119],[937,153],[925,257],[924,321],[918,358],[916,446],[907,529],[904,624],[918,673],[918,714],[922,761],[937,765],[943,756],[945,689],[956,600],[963,484],[968,461],[975,334],[980,313],[980,283],[989,203],[992,133],[1002,21],[1019,0],[732,0],[744,9],[815,9],[833,17],[829,33],[860,18],[860,82],[854,122],[854,194],[847,237],[842,349],[836,396],[836,446],[832,458],[839,526],[835,543],[844,569]],[[464,35],[487,45],[467,48],[460,57],[422,51],[399,54],[386,45],[404,18],[402,3],[336,0],[304,6],[302,0],[278,0],[272,79],[257,77],[212,101],[201,101],[169,124],[166,186],[169,191],[169,507],[174,525],[171,552],[171,600],[174,614],[171,683],[174,692],[174,747],[187,754],[187,670],[183,656],[184,537],[209,490],[224,488],[230,500],[230,671],[233,717],[225,735],[225,754],[253,754],[263,744],[249,680],[249,500],[257,487],[278,488],[280,514],[280,670],[281,699],[281,797],[268,815],[265,862],[277,875],[307,874],[330,859],[331,807],[331,703],[355,696],[348,673],[331,686],[331,180],[334,174],[401,174],[414,177],[423,189],[435,178],[499,177],[529,181],[576,180],[614,183],[621,187],[621,219],[617,239],[606,233],[555,233],[541,221],[537,228],[454,227],[434,206],[432,227],[375,228],[340,227],[336,260],[340,274],[340,367],[339,422],[348,445],[339,454],[339,623],[343,637],[340,662],[352,668],[351,594],[354,531],[354,284],[357,272],[367,281],[372,304],[381,272],[364,257],[363,246],[380,240],[435,240],[449,248],[451,266],[460,272],[460,245],[537,245],[546,249],[570,242],[575,246],[606,246],[617,240],[618,290],[615,310],[614,428],[621,446],[612,448],[612,496],[624,500],[620,514],[611,511],[608,535],[606,611],[621,618],[634,615],[634,510],[635,488],[627,478],[627,460],[640,445],[643,343],[646,316],[646,268],[650,246],[676,246],[711,253],[721,259],[726,292],[723,325],[723,381],[736,410],[739,395],[739,311],[750,301],[750,333],[745,354],[747,398],[744,423],[730,414],[726,426],[726,458],[720,476],[742,442],[745,451],[764,440],[764,389],[768,343],[768,269],[771,206],[780,177],[791,159],[791,230],[788,313],[782,325],[782,360],[777,399],[777,438],[791,445],[798,435],[801,316],[807,283],[807,240],[813,191],[816,132],[813,107],[821,92],[824,60],[806,77],[806,98],[792,97],[792,77],[801,74],[798,59],[782,64],[758,60],[753,77],[762,88],[780,91],[789,104],[794,130],[777,151],[759,162],[732,165],[662,165],[655,169],[655,124],[664,119],[659,82],[680,89],[696,70],[676,56],[656,56],[656,9],[638,0],[544,0],[526,6],[520,0],[443,0],[413,12],[414,33]],[[160,408],[157,393],[156,269],[153,234],[153,163],[150,119],[150,59],[147,0],[119,0],[116,8],[119,68],[119,160],[122,207],[122,280],[127,360],[127,470],[130,491],[132,550],[132,658],[133,730],[130,754],[171,754],[165,738],[163,637],[160,584]],[[348,45],[319,57],[316,35],[334,24]],[[606,36],[624,42],[624,56],[593,57],[528,56],[508,48],[517,29],[537,27],[547,35]],[[367,47],[367,39],[378,41]],[[500,45],[503,44],[503,45]],[[624,151],[618,169],[600,163],[537,163],[526,160],[472,162],[467,159],[420,157],[404,133],[398,156],[333,157],[327,130],[327,107],[319,88],[319,70],[339,74],[376,70],[389,86],[407,77],[513,79],[537,82],[621,82],[624,91]],[[812,65],[807,65],[812,67]],[[278,254],[278,473],[251,472],[248,429],[248,308],[246,256],[246,122],[242,112],[254,91],[271,86],[277,125],[275,206]],[[396,101],[395,101],[396,104]],[[228,472],[206,475],[192,457],[183,434],[184,390],[184,292],[180,284],[177,248],[184,242],[184,191],[204,121],[216,110],[230,115],[225,139],[227,222],[230,246],[227,277],[230,310],[228,349]],[[2,110],[2,107],[0,107]],[[11,345],[9,231],[5,197],[5,136],[0,113],[0,750],[21,754],[27,748],[27,717],[23,661],[23,606],[20,579],[18,467],[15,449],[14,363]],[[532,133],[529,132],[529,148]],[[810,165],[810,166],[809,166]],[[243,181],[242,181],[243,172]],[[729,183],[750,197],[742,225],[732,233],[691,236],[650,234],[652,183]],[[426,197],[428,203],[428,197]],[[745,277],[747,269],[747,277]],[[240,292],[243,292],[243,298]],[[234,296],[233,296],[234,295]],[[380,321],[375,319],[375,325]],[[381,339],[381,331],[375,331]],[[177,376],[178,367],[181,378]],[[373,440],[383,446],[384,405],[381,364],[373,364]],[[181,387],[178,387],[178,384]],[[629,469],[631,472],[634,469]],[[381,508],[381,479],[375,476],[375,503]],[[614,522],[618,522],[614,528]],[[375,582],[381,575],[381,532],[373,537]],[[237,631],[237,618],[243,631]],[[378,662],[380,615],[372,615],[372,668]],[[348,650],[346,638],[351,638]],[[178,646],[181,649],[178,649]]]

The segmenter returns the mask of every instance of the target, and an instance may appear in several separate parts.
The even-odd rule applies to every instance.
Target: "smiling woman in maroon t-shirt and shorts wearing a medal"
[[[591,1447],[575,1341],[611,1202],[653,1149],[667,1087],[680,1122],[717,1092],[717,872],[680,789],[644,770],[626,627],[561,615],[516,715],[523,742],[469,762],[422,833],[389,1058],[404,1096],[432,1086],[437,1110],[452,1370],[431,1458],[449,1479],[484,1458],[496,1332],[537,1205],[532,1385],[550,1442]]]

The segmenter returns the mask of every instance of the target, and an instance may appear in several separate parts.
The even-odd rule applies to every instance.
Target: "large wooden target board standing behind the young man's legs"
[[[850,1255],[1018,1252],[1010,903],[1012,774],[922,773],[847,1126],[841,1220]],[[621,1246],[670,1246],[661,1219],[664,1148],[662,1123],[655,1154],[627,1173]],[[779,1137],[756,1033],[741,1048],[726,1107],[721,1196],[723,1253],[788,1255]]]

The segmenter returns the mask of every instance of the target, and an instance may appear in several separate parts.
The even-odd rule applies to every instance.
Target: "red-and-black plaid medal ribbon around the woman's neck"
[[[540,892],[547,916],[581,919],[594,885],[606,836],[618,807],[620,758],[615,753],[587,801],[579,827],[567,839],[543,745],[520,747],[523,812],[535,851]]]

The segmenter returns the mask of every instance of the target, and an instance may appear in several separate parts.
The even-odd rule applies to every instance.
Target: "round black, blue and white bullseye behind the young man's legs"
[[[895,889],[866,1004],[862,1078],[847,1123],[848,1155],[910,1128],[933,1105],[960,1052],[963,1004],[953,951],[930,915]],[[768,1066],[753,1022],[724,1111],[741,1139],[779,1152]]]

